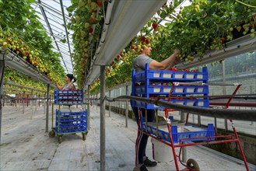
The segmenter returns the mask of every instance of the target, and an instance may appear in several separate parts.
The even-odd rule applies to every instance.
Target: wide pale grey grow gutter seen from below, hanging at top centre
[[[113,10],[110,12],[111,23],[108,26],[108,31],[105,33],[106,37],[101,37],[100,39],[104,41],[100,44],[100,50],[96,51],[93,58],[95,61],[83,83],[84,89],[99,77],[100,65],[109,65],[111,61],[114,61],[117,54],[127,46],[164,2],[166,1],[114,2]]]

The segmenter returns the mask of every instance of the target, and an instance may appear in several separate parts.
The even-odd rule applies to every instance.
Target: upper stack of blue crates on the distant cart
[[[83,103],[83,90],[54,90],[54,103],[81,104]]]

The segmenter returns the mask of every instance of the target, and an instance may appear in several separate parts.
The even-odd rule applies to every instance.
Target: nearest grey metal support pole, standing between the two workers
[[[105,66],[100,66],[100,170],[105,171]]]

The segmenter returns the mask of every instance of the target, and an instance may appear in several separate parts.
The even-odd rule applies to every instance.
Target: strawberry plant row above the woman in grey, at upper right
[[[241,5],[235,0],[196,0],[175,13],[178,4],[178,1],[164,4],[138,37],[124,48],[121,62],[114,61],[107,70],[107,87],[131,81],[132,60],[146,44],[152,45],[156,61],[167,58],[174,49],[181,50],[181,61],[194,61],[195,56],[200,60],[207,51],[223,49],[230,40],[245,34],[255,36],[256,9],[250,6],[251,1],[249,5]],[[171,22],[162,25],[160,19],[167,16]],[[97,81],[92,91],[96,93],[99,89]]]

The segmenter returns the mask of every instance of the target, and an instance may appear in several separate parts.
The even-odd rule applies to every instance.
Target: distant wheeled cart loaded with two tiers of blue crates
[[[87,110],[83,108],[72,109],[72,105],[83,104],[83,90],[54,90],[54,103],[58,104],[56,109],[55,127],[53,131],[58,134],[61,143],[63,134],[82,133],[82,139],[87,134]],[[67,108],[64,108],[67,106]]]

